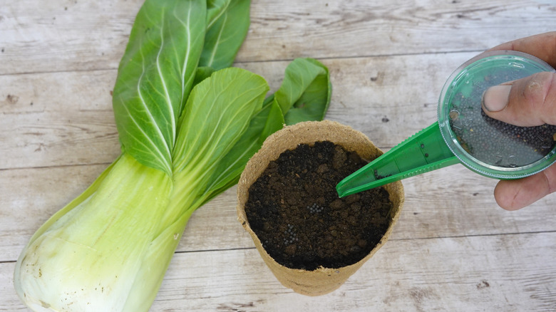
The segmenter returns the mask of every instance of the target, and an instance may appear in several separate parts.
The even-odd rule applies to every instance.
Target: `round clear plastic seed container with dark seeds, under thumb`
[[[518,127],[488,117],[481,107],[490,86],[541,71],[554,68],[525,53],[493,51],[470,59],[448,78],[438,123],[446,145],[463,165],[488,177],[515,179],[555,162],[556,125]]]

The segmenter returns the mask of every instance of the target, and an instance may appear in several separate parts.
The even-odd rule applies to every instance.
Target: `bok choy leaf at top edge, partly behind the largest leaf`
[[[222,14],[213,20],[207,28],[199,66],[208,66],[215,70],[232,66],[249,30],[250,3],[250,0],[232,0]],[[223,7],[223,4],[220,7]]]

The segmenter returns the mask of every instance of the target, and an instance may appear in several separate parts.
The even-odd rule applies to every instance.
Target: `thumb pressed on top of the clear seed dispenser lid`
[[[521,127],[556,125],[556,73],[542,72],[488,88],[483,110]]]

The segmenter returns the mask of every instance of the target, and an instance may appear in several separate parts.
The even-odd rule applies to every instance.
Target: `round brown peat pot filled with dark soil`
[[[326,145],[317,142],[326,142]],[[297,160],[293,154],[310,152],[309,147],[316,148],[317,145],[321,150],[304,155],[306,160]],[[283,152],[285,161],[281,161],[282,157],[279,160]],[[238,220],[252,236],[262,259],[282,285],[307,296],[334,291],[386,243],[403,206],[401,182],[365,191],[371,192],[369,194],[361,192],[342,199],[335,189],[341,178],[358,169],[346,169],[342,164],[358,160],[369,162],[382,153],[363,133],[324,120],[284,127],[268,137],[259,152],[249,160],[237,187]],[[320,161],[326,155],[332,162],[317,163],[311,168],[312,162]],[[345,172],[338,173],[337,170]],[[304,178],[309,182],[303,182]],[[279,187],[257,188],[257,180]],[[318,189],[326,181],[331,186]],[[331,219],[334,224],[326,224]],[[373,222],[376,227],[371,225]],[[311,227],[315,229],[309,234],[302,231]],[[362,228],[361,233],[353,233],[359,227],[366,228]],[[376,238],[369,236],[370,232]],[[354,256],[359,258],[354,259]]]

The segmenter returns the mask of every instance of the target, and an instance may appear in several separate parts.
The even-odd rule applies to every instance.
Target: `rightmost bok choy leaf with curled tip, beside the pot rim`
[[[204,202],[236,184],[247,161],[260,149],[264,140],[280,130],[284,123],[322,120],[330,102],[330,93],[328,69],[321,63],[310,58],[290,63],[282,86],[277,93],[264,100],[262,110],[254,115],[242,138],[218,165],[205,190]],[[297,108],[297,103],[310,104]],[[289,116],[289,120],[285,120],[284,115]]]

